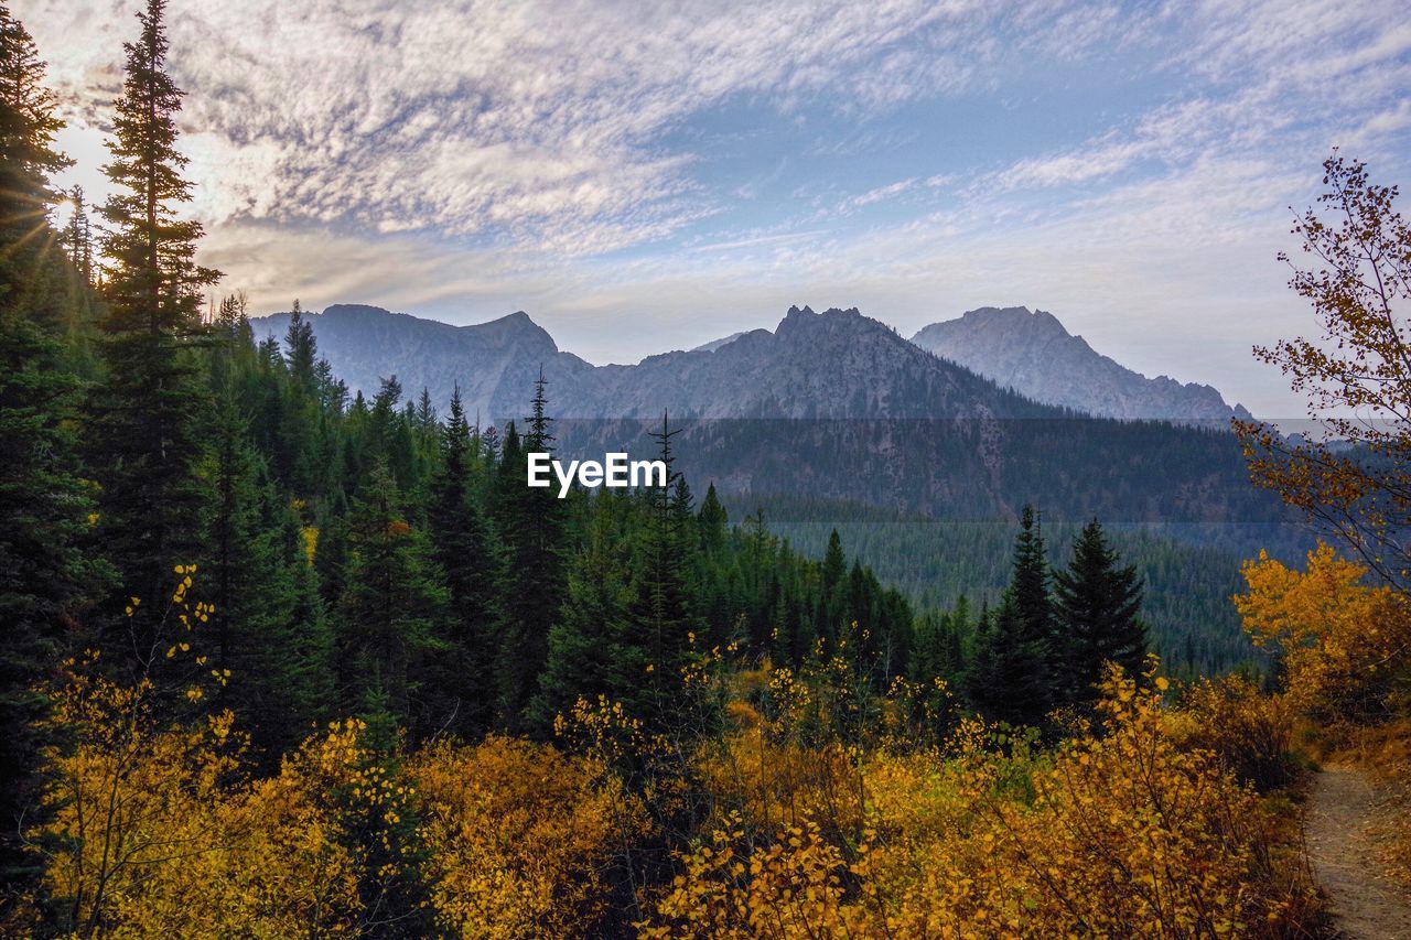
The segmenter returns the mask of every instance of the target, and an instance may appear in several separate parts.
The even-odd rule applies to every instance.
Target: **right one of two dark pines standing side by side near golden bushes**
[[[1054,589],[1064,700],[1094,700],[1105,662],[1140,676],[1147,653],[1141,579],[1136,567],[1120,567],[1096,519],[1074,539],[1072,560],[1054,574]]]

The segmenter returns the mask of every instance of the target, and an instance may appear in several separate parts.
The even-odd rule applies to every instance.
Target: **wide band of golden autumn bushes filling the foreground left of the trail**
[[[1096,721],[1038,747],[976,718],[938,723],[943,686],[878,693],[837,662],[693,670],[700,699],[724,704],[718,730],[684,748],[580,700],[559,723],[569,751],[494,735],[406,748],[353,718],[260,776],[229,713],[189,713],[209,697],[75,666],[54,696],[69,742],[48,754],[31,833],[44,886],[61,929],[114,936],[594,936],[636,920],[662,937],[1187,937],[1312,923],[1298,847],[1249,785],[1287,754],[1291,696],[1225,679],[1171,707],[1154,672],[1139,683],[1113,668]]]

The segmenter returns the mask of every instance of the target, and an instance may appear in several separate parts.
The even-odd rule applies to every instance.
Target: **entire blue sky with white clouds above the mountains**
[[[90,200],[137,0],[11,0]],[[1411,186],[1404,0],[171,0],[202,260],[255,312],[526,311],[629,363],[792,303],[1053,312],[1302,412],[1276,261],[1333,147]]]

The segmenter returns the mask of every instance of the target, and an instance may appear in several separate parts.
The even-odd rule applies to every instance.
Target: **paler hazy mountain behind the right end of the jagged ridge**
[[[1102,418],[1226,422],[1249,418],[1209,385],[1147,378],[1095,351],[1044,311],[1023,306],[969,311],[931,323],[912,342],[1005,388]]]

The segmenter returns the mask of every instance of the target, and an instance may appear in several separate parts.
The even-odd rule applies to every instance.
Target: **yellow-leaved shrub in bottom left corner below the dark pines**
[[[285,776],[231,779],[229,713],[162,727],[148,682],[75,675],[54,720],[78,741],[49,752],[49,816],[30,836],[69,929],[279,937],[353,923],[357,885],[329,820]]]

